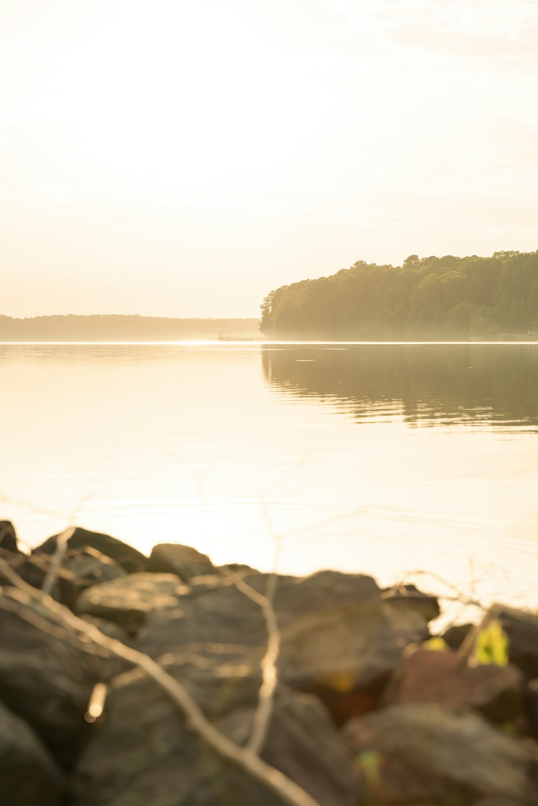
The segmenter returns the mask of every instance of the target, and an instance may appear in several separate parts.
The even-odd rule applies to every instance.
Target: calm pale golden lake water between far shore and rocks
[[[0,517],[538,606],[538,345],[1,345]],[[411,576],[410,576],[411,574]]]

